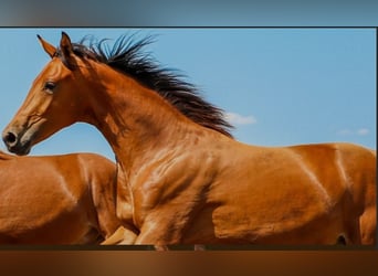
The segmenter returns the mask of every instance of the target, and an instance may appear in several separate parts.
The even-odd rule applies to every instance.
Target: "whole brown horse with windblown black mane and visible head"
[[[148,40],[108,54],[65,33],[56,49],[40,41],[52,60],[3,140],[25,155],[75,121],[97,127],[124,173],[117,214],[132,213],[136,244],[376,243],[374,151],[239,142],[219,109],[141,56]]]

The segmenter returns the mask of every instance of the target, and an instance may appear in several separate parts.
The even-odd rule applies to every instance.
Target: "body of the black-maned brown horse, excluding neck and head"
[[[346,167],[349,158],[361,167]],[[137,243],[375,242],[375,157],[364,148],[260,148],[218,137],[161,159],[170,166],[159,160],[130,179]]]

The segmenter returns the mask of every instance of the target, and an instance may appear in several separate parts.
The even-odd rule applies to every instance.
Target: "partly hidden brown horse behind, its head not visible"
[[[127,240],[116,215],[115,178],[114,162],[94,153],[18,157],[0,151],[0,244]]]

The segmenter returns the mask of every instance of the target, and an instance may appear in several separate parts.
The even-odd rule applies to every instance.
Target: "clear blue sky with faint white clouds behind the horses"
[[[36,34],[57,45],[62,30],[72,41],[157,34],[146,52],[224,109],[243,142],[376,148],[374,29],[0,29],[1,130],[49,62]],[[31,155],[75,151],[114,158],[102,135],[84,124],[55,134]]]

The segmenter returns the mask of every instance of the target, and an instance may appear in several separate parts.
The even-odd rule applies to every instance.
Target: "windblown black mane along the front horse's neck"
[[[113,47],[105,43],[106,40],[94,42],[93,38],[88,36],[72,45],[77,56],[105,63],[135,78],[157,92],[192,121],[232,138],[230,129],[233,127],[227,121],[222,109],[204,100],[197,87],[185,82],[182,75],[175,70],[162,68],[149,53],[141,52],[146,45],[154,42],[154,36],[137,41],[134,36],[120,36]],[[90,44],[86,46],[84,43],[88,40]]]

